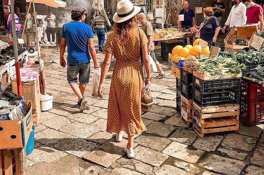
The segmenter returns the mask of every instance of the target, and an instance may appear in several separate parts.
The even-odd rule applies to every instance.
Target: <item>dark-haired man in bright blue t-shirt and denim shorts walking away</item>
[[[66,67],[63,58],[66,44],[68,45],[67,56],[67,80],[78,96],[79,111],[84,111],[86,100],[83,98],[85,86],[89,82],[90,77],[90,59],[94,62],[94,68],[99,68],[96,57],[96,51],[93,44],[93,33],[91,26],[84,23],[87,15],[86,9],[80,6],[74,7],[71,11],[72,22],[66,23],[61,31],[60,43],[60,65]],[[79,74],[79,85],[77,84],[77,75]]]

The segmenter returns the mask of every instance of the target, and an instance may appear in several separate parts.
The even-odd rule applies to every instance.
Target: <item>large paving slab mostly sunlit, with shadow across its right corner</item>
[[[162,153],[195,164],[205,151],[199,149],[190,150],[188,145],[172,142]]]

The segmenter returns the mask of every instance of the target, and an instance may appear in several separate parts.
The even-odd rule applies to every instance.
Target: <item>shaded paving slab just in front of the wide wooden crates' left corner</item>
[[[221,135],[208,135],[205,138],[198,137],[194,142],[193,147],[198,148],[204,151],[215,151],[218,145],[223,140],[223,136]]]

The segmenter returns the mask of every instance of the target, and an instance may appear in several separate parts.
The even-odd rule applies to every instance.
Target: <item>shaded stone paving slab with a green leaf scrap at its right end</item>
[[[252,151],[255,144],[250,144],[245,141],[245,138],[249,138],[248,136],[238,135],[238,134],[228,134],[224,141],[222,142],[223,147],[232,147],[234,149],[244,150],[244,151]],[[252,138],[252,141],[256,143],[256,138]]]

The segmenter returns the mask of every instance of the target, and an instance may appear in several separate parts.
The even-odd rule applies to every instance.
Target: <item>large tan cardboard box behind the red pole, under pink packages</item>
[[[21,82],[22,96],[25,100],[31,101],[32,110],[40,108],[40,81]],[[12,79],[12,92],[17,94],[17,79]]]

